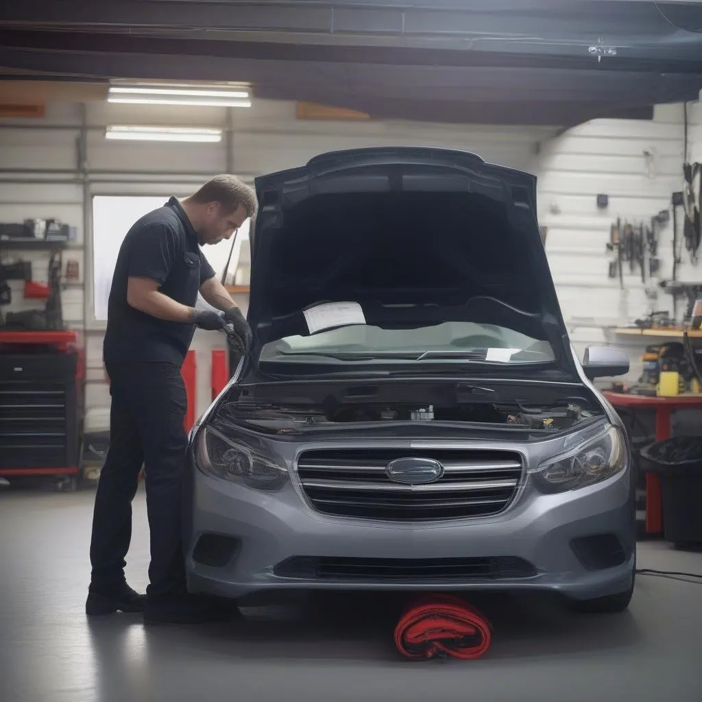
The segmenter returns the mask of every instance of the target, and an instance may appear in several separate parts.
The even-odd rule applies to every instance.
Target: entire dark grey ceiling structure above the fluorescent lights
[[[661,3],[672,21],[649,0],[4,5],[0,67],[15,77],[239,81],[373,117],[550,126],[648,115],[702,88],[702,34],[678,28],[699,4]],[[598,62],[602,34],[617,55]]]

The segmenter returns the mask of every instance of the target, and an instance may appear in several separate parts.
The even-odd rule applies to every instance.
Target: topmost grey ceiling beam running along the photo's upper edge
[[[465,34],[595,37],[651,34],[675,30],[650,0],[22,0],[8,3],[5,22],[37,26],[111,25],[247,29],[252,32],[324,32],[335,34]],[[661,5],[682,26],[699,19],[694,3]],[[578,22],[573,22],[577,18]]]

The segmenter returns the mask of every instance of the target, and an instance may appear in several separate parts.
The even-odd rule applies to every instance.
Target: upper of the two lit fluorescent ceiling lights
[[[107,91],[107,102],[130,105],[251,107],[248,91],[218,85],[113,84]]]

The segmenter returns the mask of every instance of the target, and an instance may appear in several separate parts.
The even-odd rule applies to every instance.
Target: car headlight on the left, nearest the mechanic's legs
[[[251,444],[245,439],[234,442],[210,427],[197,435],[195,461],[207,475],[254,490],[279,490],[289,477],[287,469],[276,463],[272,456],[266,456],[265,447],[256,439],[251,439]]]

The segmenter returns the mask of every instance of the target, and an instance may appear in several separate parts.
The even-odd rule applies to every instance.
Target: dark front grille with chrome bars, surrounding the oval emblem
[[[392,481],[396,458],[432,458],[444,466],[435,482]],[[504,510],[522,480],[522,456],[512,451],[456,449],[315,449],[300,454],[298,477],[319,512],[391,521],[484,517]]]

